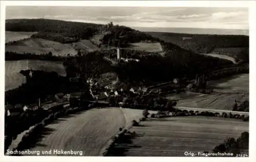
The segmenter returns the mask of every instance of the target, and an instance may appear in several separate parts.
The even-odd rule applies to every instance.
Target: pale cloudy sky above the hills
[[[47,18],[152,28],[249,29],[247,8],[7,6],[6,19]]]

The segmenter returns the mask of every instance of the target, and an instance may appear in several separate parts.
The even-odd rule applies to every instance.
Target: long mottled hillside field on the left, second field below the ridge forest
[[[28,39],[20,42],[19,44],[6,45],[5,50],[17,53],[35,53],[36,55],[49,53],[50,51],[54,56],[77,54],[77,51],[71,46],[71,44],[61,44],[59,42],[44,39]]]

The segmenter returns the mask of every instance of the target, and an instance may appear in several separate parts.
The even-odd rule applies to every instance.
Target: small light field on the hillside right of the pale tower
[[[129,49],[144,50],[147,52],[162,52],[162,46],[160,43],[131,43]]]

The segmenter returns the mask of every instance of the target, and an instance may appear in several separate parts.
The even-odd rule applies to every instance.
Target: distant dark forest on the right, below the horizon
[[[180,34],[164,32],[145,33],[150,34],[161,41],[176,44],[195,53],[210,53],[216,48],[224,48],[230,51],[223,53],[223,55],[245,60],[246,63],[249,63],[249,36]],[[242,48],[243,50],[241,52],[234,51],[236,48]]]

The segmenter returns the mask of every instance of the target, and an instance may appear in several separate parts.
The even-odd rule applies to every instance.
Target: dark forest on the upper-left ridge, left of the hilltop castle
[[[6,31],[13,32],[47,32],[63,37],[88,39],[97,31],[99,24],[71,22],[51,19],[9,19]],[[42,37],[43,35],[41,35]],[[49,37],[49,35],[45,35]]]

